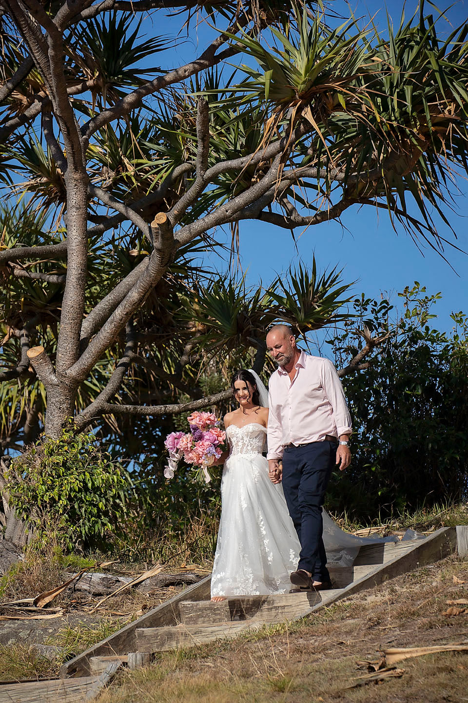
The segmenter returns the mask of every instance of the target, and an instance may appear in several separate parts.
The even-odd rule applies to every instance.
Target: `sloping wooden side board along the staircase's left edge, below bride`
[[[90,657],[99,657],[106,655],[121,655],[128,652],[135,652],[136,646],[136,631],[142,627],[157,627],[164,625],[175,625],[180,622],[179,604],[184,600],[201,600],[210,597],[211,576],[206,579],[194,583],[182,593],[178,593],[171,600],[167,600],[156,608],[149,610],[145,615],[138,620],[121,628],[110,637],[102,640],[97,645],[93,645],[86,652],[82,652],[69,662],[62,664],[60,667],[60,677],[67,678],[69,676],[88,676],[90,673],[89,659]]]

